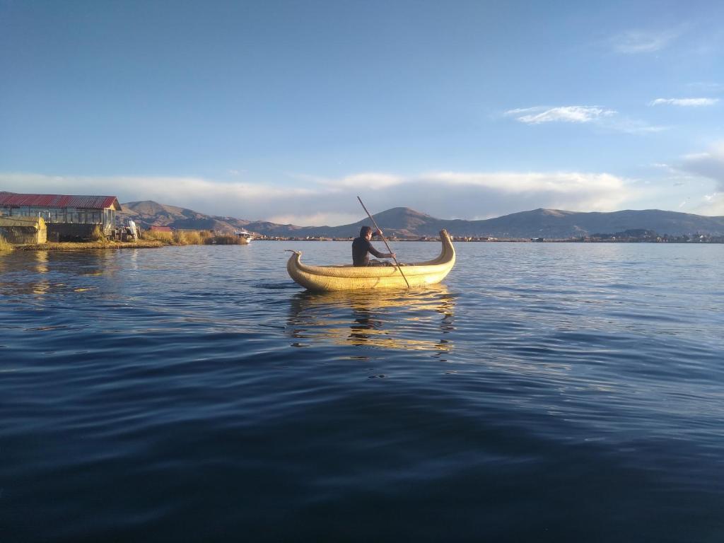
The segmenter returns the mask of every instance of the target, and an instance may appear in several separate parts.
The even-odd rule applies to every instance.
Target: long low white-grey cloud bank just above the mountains
[[[363,219],[361,195],[372,213],[410,207],[440,218],[481,219],[539,207],[615,211],[631,201],[631,182],[589,172],[361,172],[338,179],[303,177],[303,187],[227,183],[196,177],[74,177],[2,174],[0,190],[107,194],[120,201],[154,200],[205,214],[300,226]]]

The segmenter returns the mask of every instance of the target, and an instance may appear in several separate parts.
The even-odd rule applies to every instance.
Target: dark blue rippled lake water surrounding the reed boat
[[[724,541],[724,245],[285,248],[0,256],[3,542]]]

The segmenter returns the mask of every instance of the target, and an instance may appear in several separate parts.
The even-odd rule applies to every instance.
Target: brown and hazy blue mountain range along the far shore
[[[122,204],[122,217],[132,218],[143,227],[169,226],[188,230],[231,232],[245,228],[250,232],[278,237],[355,237],[368,218],[337,227],[300,227],[294,224],[248,221],[230,216],[210,216],[190,209],[165,206],[153,201]],[[379,227],[390,237],[435,236],[443,228],[453,236],[521,239],[544,237],[566,239],[594,234],[613,234],[626,230],[651,230],[659,235],[724,235],[724,216],[704,216],[676,211],[646,209],[602,212],[577,212],[559,209],[534,209],[496,217],[467,221],[436,219],[413,209],[397,207],[374,215]]]

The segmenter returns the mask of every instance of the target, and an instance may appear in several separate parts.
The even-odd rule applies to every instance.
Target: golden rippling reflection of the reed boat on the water
[[[287,331],[295,347],[357,345],[449,353],[455,295],[445,285],[424,290],[300,292]]]

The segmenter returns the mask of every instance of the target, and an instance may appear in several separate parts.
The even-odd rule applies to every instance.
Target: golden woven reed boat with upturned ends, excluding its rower
[[[307,266],[302,264],[301,251],[293,254],[287,261],[287,271],[295,282],[308,290],[355,290],[363,288],[406,288],[423,287],[439,283],[455,264],[455,248],[450,235],[440,231],[442,251],[440,256],[426,262],[403,264],[400,266]]]

